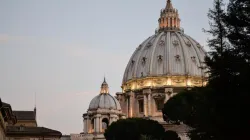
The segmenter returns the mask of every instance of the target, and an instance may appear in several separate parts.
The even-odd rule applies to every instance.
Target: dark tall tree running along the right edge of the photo
[[[250,1],[230,0],[224,22],[228,29],[227,38],[234,48],[234,55],[238,58],[233,64],[237,73],[237,87],[233,89],[236,96],[231,101],[234,102],[233,126],[237,129],[237,134],[248,136],[250,131]],[[235,132],[234,132],[235,133]]]

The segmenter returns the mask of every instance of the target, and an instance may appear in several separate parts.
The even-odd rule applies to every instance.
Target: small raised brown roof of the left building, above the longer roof
[[[36,120],[36,113],[34,111],[13,111],[17,120]]]

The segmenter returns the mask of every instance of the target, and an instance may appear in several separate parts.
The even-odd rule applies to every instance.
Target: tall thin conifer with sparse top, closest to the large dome
[[[214,0],[214,9],[209,9],[208,18],[210,30],[204,30],[212,38],[208,40],[210,52],[205,58],[209,69],[208,86],[224,91],[226,87],[233,85],[234,78],[231,62],[235,60],[231,52],[231,46],[227,41],[227,29],[224,23],[225,12],[222,0]],[[222,92],[224,93],[224,92]]]

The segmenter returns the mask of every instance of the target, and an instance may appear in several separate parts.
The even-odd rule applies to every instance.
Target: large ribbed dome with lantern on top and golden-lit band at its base
[[[161,10],[159,29],[131,56],[122,88],[201,85],[205,54],[203,47],[180,28],[178,10],[168,0],[166,8]]]

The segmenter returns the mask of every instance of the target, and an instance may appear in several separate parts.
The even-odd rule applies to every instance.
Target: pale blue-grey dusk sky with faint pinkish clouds
[[[172,0],[185,33],[206,45],[212,0]],[[166,0],[0,0],[0,98],[37,107],[39,126],[83,131],[105,75],[121,91],[130,56],[158,27]],[[207,47],[205,47],[207,50]]]

